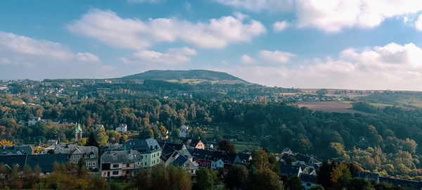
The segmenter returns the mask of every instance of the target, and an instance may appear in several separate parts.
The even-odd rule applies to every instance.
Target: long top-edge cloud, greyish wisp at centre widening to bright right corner
[[[422,11],[422,1],[400,0],[216,0],[221,4],[248,11],[290,12],[297,16],[296,26],[312,27],[324,32],[340,32],[345,28],[372,28],[385,19]],[[407,21],[406,21],[407,22]]]

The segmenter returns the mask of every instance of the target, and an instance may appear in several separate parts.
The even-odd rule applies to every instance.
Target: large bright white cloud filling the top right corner
[[[402,0],[296,0],[298,27],[315,27],[325,32],[344,28],[371,28],[387,18],[422,11],[422,1]]]

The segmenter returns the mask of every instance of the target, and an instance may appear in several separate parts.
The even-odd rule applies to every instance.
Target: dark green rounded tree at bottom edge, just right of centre
[[[227,189],[242,189],[248,180],[248,169],[243,165],[233,165],[227,171],[224,184]]]

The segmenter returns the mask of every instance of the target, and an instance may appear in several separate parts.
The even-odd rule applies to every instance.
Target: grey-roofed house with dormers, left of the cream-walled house
[[[77,144],[60,144],[54,148],[54,153],[65,153],[68,162],[77,164],[84,159],[85,165],[93,171],[98,170],[98,148],[96,146],[77,146]]]

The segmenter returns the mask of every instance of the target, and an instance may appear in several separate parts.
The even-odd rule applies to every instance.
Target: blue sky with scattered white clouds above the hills
[[[0,1],[0,79],[206,69],[271,87],[422,91],[422,1]]]

